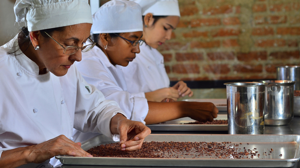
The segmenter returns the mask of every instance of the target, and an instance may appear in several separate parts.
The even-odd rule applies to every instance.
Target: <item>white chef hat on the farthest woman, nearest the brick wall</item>
[[[131,0],[141,6],[142,15],[152,13],[154,16],[179,16],[178,0]]]

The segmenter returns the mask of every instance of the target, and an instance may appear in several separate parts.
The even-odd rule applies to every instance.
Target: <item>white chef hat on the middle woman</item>
[[[93,15],[91,33],[123,33],[142,31],[140,6],[128,0],[110,0]]]

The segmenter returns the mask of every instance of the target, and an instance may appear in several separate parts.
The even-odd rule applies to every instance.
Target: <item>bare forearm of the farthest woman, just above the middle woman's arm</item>
[[[162,88],[152,92],[145,93],[145,97],[151,102],[161,102],[164,98],[170,98],[177,101],[179,98],[179,92],[173,87]]]

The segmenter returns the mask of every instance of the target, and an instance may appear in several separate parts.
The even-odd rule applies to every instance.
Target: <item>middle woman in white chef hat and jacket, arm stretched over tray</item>
[[[128,0],[110,0],[93,15],[96,46],[82,53],[77,68],[83,78],[96,86],[106,99],[114,100],[133,121],[160,123],[181,117],[212,121],[218,110],[212,103],[150,102],[127,92],[121,66],[127,66],[139,53],[142,37],[140,6]]]

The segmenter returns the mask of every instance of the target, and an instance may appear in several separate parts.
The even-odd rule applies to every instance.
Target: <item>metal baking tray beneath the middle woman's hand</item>
[[[227,120],[227,115],[217,115],[214,120]],[[151,131],[227,131],[227,124],[184,124],[195,120],[184,117],[159,124],[147,125]]]

